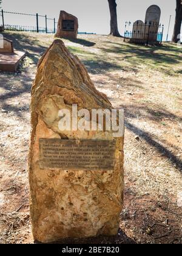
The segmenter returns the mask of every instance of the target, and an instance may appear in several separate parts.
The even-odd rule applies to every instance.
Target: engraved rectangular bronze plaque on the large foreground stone
[[[114,140],[39,139],[41,169],[110,170],[115,165]]]

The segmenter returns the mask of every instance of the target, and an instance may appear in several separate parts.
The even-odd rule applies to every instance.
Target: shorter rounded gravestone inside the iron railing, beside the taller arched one
[[[143,21],[135,21],[133,23],[133,31],[132,31],[132,43],[143,43],[145,38],[145,24]]]

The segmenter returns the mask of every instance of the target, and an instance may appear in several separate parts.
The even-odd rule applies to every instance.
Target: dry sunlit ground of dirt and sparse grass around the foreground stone
[[[34,243],[27,175],[30,90],[53,36],[5,37],[27,55],[16,74],[0,73],[0,243]],[[182,243],[182,48],[136,46],[99,35],[64,41],[96,88],[125,110],[126,187],[117,236],[60,243]]]

